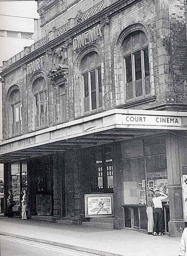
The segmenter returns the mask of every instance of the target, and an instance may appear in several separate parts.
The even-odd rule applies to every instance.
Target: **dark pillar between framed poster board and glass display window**
[[[122,229],[124,227],[123,220],[123,186],[122,186],[122,171],[121,171],[121,144],[119,142],[113,145],[113,200],[114,213],[113,220],[114,229]]]

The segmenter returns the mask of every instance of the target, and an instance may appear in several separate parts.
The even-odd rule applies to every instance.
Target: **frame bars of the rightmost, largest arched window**
[[[140,36],[140,32],[143,32],[141,30],[139,30],[139,36]],[[144,33],[144,32],[143,32]],[[138,49],[133,50],[133,44],[132,44],[132,35],[133,32],[131,34],[129,34],[130,36],[130,52],[128,53],[124,53],[123,54],[123,71],[124,71],[124,94],[125,94],[125,101],[126,102],[130,102],[130,101],[135,101],[135,100],[139,100],[139,99],[144,99],[146,97],[149,97],[151,95],[151,69],[150,69],[150,58],[149,58],[149,47],[148,47],[148,41],[147,44],[142,46],[140,43],[140,47]],[[125,42],[125,41],[124,41]],[[124,43],[123,43],[124,44]],[[149,84],[150,84],[150,92],[146,94],[146,87],[145,87],[145,63],[144,63],[144,51],[147,50],[148,51],[148,66],[149,66]],[[140,59],[141,59],[141,85],[142,85],[142,95],[140,96],[136,96],[136,81],[140,80],[136,80],[136,72],[135,72],[135,54],[137,52],[140,52]],[[132,73],[132,93],[133,93],[133,97],[130,99],[127,99],[127,71],[126,71],[126,58],[130,56],[131,57],[131,73]]]

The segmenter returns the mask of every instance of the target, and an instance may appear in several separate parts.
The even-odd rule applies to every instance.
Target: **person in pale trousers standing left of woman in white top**
[[[154,210],[154,204],[152,202],[152,198],[154,196],[154,191],[149,190],[147,194],[147,208],[146,208],[146,213],[147,213],[147,232],[149,235],[153,235],[153,226],[154,226],[154,220],[153,220],[153,210]]]

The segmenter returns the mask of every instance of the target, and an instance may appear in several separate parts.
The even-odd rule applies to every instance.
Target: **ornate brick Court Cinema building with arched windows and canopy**
[[[26,188],[32,218],[146,229],[147,192],[160,189],[168,194],[165,232],[180,236],[187,222],[185,6],[37,2],[43,38],[1,72],[4,201],[12,188],[19,204]]]

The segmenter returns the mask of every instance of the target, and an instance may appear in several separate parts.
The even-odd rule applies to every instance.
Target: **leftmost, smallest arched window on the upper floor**
[[[11,133],[12,136],[22,132],[21,97],[18,89],[10,94]]]

